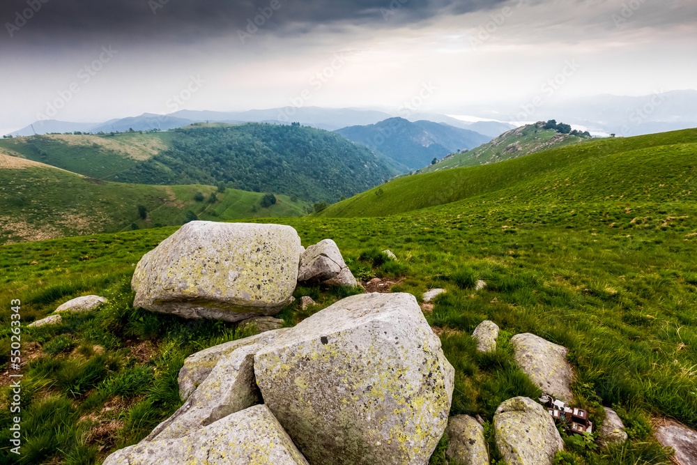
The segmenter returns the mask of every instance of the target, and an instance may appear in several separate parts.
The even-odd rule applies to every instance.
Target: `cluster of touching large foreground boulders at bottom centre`
[[[196,353],[179,383],[181,409],[105,464],[210,453],[233,464],[425,465],[454,369],[411,294],[360,294],[294,328]]]

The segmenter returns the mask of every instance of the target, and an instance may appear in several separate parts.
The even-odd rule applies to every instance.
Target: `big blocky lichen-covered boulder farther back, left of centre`
[[[139,261],[133,305],[185,318],[273,316],[295,290],[298,250],[289,226],[190,222]]]

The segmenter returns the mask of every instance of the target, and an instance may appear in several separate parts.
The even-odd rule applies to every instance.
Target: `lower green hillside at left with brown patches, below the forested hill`
[[[262,208],[261,193],[220,193],[210,185],[105,182],[6,155],[0,155],[0,183],[0,243],[178,225],[190,211],[201,220],[299,216],[306,206],[278,195],[276,204]],[[195,200],[197,192],[203,201]]]

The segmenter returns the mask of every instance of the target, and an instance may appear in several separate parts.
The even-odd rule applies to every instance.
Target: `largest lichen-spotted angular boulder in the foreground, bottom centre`
[[[254,357],[263,401],[311,464],[427,464],[454,370],[411,294],[361,294]]]

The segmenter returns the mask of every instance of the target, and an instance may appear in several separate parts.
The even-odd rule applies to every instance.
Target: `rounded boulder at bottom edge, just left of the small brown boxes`
[[[496,445],[508,465],[552,465],[564,441],[546,409],[528,397],[503,402],[493,416]]]

